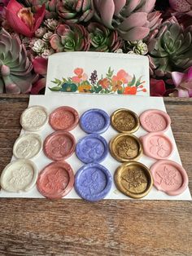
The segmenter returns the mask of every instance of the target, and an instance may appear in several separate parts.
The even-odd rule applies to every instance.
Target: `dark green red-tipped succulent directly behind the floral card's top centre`
[[[122,46],[118,33],[107,29],[103,24],[91,22],[87,29],[91,45],[89,51],[116,51]]]

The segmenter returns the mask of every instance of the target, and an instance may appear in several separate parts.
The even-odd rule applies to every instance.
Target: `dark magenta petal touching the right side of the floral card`
[[[164,96],[165,93],[165,83],[164,80],[156,80],[154,78],[150,79],[150,95],[151,96]]]

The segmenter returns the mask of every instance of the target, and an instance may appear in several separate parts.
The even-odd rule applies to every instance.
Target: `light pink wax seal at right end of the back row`
[[[142,128],[151,131],[165,131],[171,124],[171,119],[167,113],[159,109],[144,111],[140,117]]]

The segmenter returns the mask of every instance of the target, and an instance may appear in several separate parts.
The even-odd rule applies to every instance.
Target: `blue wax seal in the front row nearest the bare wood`
[[[91,163],[82,166],[75,175],[75,190],[86,201],[100,201],[110,192],[111,173],[102,165]]]

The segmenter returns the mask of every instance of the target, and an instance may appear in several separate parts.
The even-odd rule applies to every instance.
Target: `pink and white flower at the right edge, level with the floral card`
[[[172,81],[176,86],[178,97],[192,97],[192,67],[187,73],[172,72]]]

